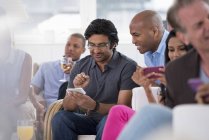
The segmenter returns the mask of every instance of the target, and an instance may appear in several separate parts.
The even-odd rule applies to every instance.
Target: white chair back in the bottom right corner
[[[173,109],[172,127],[174,135],[176,137],[188,137],[192,140],[208,140],[208,118],[208,105],[178,105]]]

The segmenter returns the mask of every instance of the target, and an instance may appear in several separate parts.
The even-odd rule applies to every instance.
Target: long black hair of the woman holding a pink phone
[[[165,48],[165,64],[167,64],[170,61],[170,58],[168,56],[168,52],[169,52],[169,50],[168,50],[168,43],[169,43],[170,39],[173,38],[173,37],[176,37],[176,31],[175,30],[170,31],[170,33],[169,33],[169,35],[168,35],[168,37],[167,37],[167,39],[165,41],[165,44],[166,44],[166,48]],[[191,45],[185,45],[185,50],[186,51],[189,51],[191,48],[192,48]]]

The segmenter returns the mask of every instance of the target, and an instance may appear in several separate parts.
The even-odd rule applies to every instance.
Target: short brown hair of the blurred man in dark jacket
[[[185,6],[191,5],[192,3],[200,1],[200,0],[176,0],[173,6],[168,9],[167,12],[167,20],[169,24],[176,30],[185,32],[185,28],[181,26],[181,20],[179,19],[177,13],[180,9]],[[209,4],[209,0],[201,0],[207,4]],[[192,18],[192,17],[191,17]]]

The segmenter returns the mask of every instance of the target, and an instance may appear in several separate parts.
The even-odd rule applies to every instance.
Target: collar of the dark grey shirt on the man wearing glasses
[[[105,68],[115,68],[117,66],[117,64],[118,64],[118,61],[119,61],[119,53],[117,51],[114,51],[111,60],[108,62],[108,64],[105,66]],[[96,62],[92,58],[91,68],[94,68],[96,66],[97,66]]]

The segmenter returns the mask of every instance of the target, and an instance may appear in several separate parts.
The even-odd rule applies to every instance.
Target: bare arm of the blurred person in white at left
[[[26,102],[29,94],[31,74],[32,74],[32,58],[29,54],[26,53],[20,75],[19,94],[13,101],[15,106],[18,106]]]

